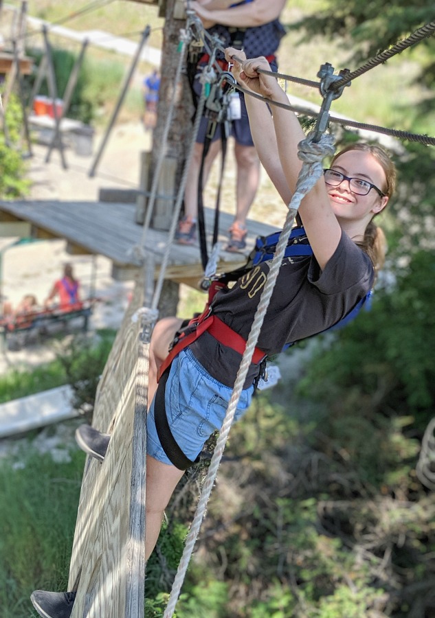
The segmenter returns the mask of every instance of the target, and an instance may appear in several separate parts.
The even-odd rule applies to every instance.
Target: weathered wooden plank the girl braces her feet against
[[[143,286],[142,286],[143,287]],[[135,296],[98,385],[93,426],[111,434],[102,464],[87,458],[69,571],[71,618],[143,618],[146,393],[149,344]]]

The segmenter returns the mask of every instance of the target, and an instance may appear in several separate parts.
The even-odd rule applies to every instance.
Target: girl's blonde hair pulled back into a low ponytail
[[[379,187],[379,189],[390,198],[396,188],[396,166],[392,162],[388,152],[377,144],[366,144],[366,142],[358,141],[356,144],[349,144],[349,146],[345,146],[342,150],[337,152],[331,161],[331,165],[333,165],[340,155],[344,155],[345,152],[349,152],[350,150],[368,152],[377,160],[386,177],[385,186]],[[373,266],[375,266],[375,275],[377,275],[385,262],[387,240],[382,229],[373,222],[373,219],[366,227],[364,240],[357,242],[357,245],[361,247],[361,249],[367,253],[370,260],[372,260]]]

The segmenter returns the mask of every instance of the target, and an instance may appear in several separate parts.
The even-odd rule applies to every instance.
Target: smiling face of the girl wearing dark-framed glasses
[[[383,192],[386,186],[386,174],[381,164],[370,152],[348,150],[335,159],[331,169],[349,178],[368,181]],[[368,194],[359,195],[350,188],[348,180],[332,186],[325,183],[329,201],[334,214],[339,220],[364,221],[366,225],[375,214],[380,212],[388,202],[388,196],[380,196],[375,188]]]

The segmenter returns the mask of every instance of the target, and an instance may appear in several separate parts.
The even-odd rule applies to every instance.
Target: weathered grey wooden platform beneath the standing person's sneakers
[[[220,236],[222,247],[227,242],[227,229],[232,215],[221,213]],[[207,229],[212,230],[214,212],[206,209]],[[248,221],[245,255],[254,246],[256,236],[276,231],[276,227],[262,222]],[[65,238],[70,253],[104,255],[112,261],[115,279],[133,279],[140,268],[135,247],[140,247],[143,227],[135,223],[135,205],[109,202],[74,201],[1,201],[0,236],[21,238]],[[146,251],[153,253],[158,266],[168,244],[168,232],[149,229]],[[228,271],[243,264],[242,253],[221,251],[219,270]],[[166,268],[166,279],[196,287],[203,275],[199,247],[172,244]]]

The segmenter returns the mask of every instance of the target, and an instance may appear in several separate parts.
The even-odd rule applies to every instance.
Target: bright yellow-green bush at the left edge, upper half
[[[11,95],[5,116],[6,131],[0,134],[0,198],[19,198],[27,194],[26,165],[20,152],[23,114],[15,95]]]

